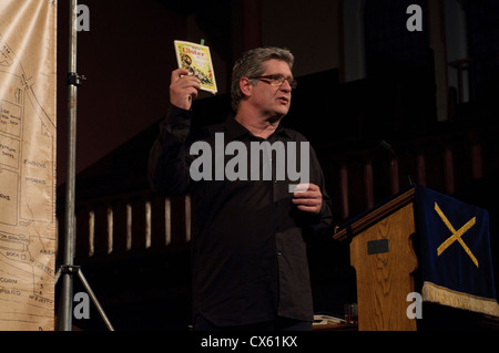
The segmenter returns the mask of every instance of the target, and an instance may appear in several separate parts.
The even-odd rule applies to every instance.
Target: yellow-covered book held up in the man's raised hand
[[[215,94],[216,81],[215,71],[213,70],[212,55],[210,48],[206,45],[173,41],[175,45],[176,61],[179,68],[187,69],[190,75],[194,75],[201,81],[201,90]]]

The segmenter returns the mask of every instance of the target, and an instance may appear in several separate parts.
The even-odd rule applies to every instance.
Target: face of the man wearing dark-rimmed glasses
[[[249,98],[252,104],[264,115],[282,118],[289,111],[292,87],[287,79],[293,79],[293,74],[286,62],[271,59],[264,63],[265,71],[262,76],[282,76],[283,84],[272,84],[272,80],[261,79],[254,86]]]

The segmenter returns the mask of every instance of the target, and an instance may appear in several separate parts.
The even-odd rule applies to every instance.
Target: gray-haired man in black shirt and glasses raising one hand
[[[306,241],[333,235],[332,214],[314,150],[281,125],[296,86],[293,62],[285,49],[244,53],[232,77],[235,116],[194,137],[191,105],[200,81],[183,69],[172,72],[171,106],[151,149],[150,181],[159,193],[192,195],[195,330],[312,329]],[[230,146],[237,148],[228,152]],[[248,150],[256,156],[242,156]],[[279,153],[286,154],[287,172],[291,164],[302,165],[305,189],[289,191],[296,174],[283,176]],[[206,164],[201,167],[197,158]]]

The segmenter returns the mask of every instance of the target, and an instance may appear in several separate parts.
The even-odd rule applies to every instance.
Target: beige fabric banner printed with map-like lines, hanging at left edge
[[[0,330],[54,329],[57,1],[0,1]]]

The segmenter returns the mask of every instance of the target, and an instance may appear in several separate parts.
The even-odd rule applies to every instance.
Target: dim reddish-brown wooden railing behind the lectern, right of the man
[[[396,194],[409,180],[454,195],[498,172],[498,127],[398,142],[395,155],[370,148],[324,156],[337,218],[346,220]]]

